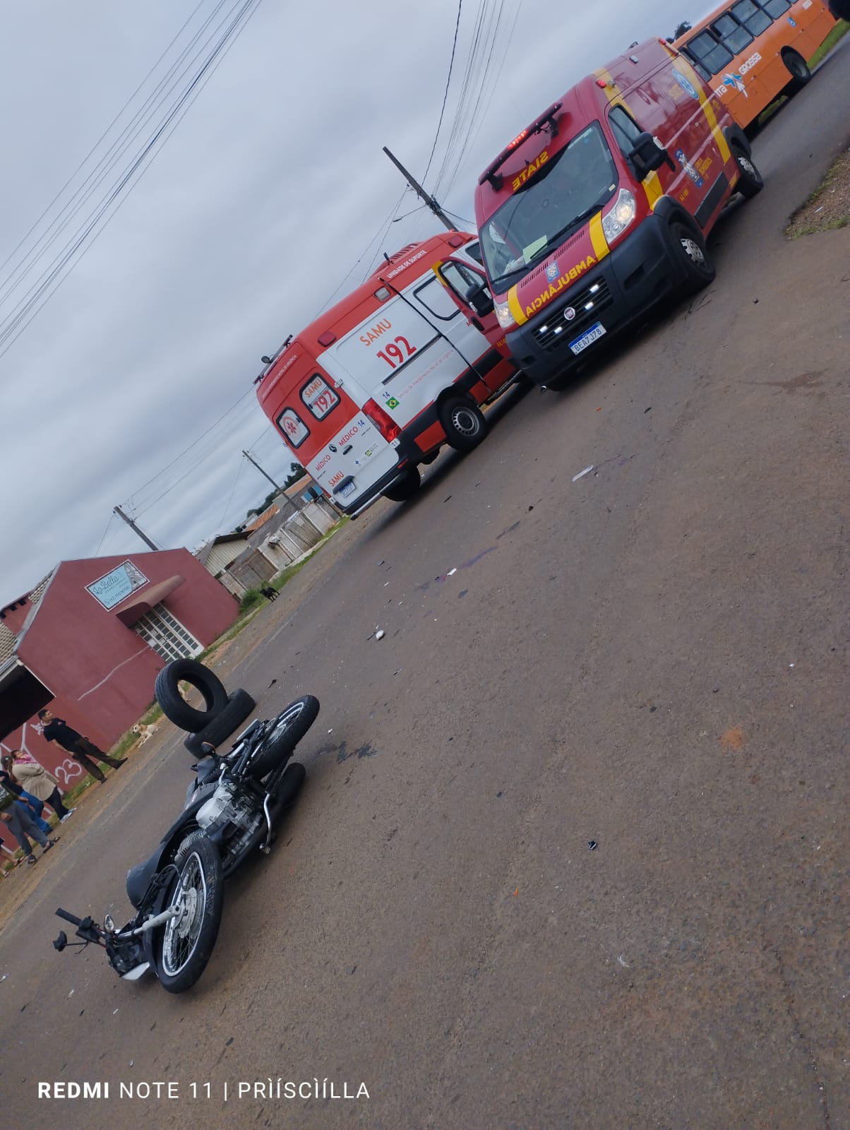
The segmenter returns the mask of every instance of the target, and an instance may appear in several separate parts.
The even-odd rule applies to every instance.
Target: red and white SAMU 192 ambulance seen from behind
[[[488,307],[480,316],[459,308],[446,279],[435,275],[444,260],[446,278]],[[409,498],[419,464],[436,459],[443,444],[477,446],[487,433],[479,406],[517,375],[477,240],[462,232],[388,257],[263,360],[255,381],[262,410],[293,458],[350,515],[382,494]]]

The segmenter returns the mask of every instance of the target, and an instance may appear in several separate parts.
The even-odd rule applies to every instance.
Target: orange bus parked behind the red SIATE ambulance
[[[674,43],[746,129],[812,78],[807,59],[835,26],[822,0],[725,3]]]

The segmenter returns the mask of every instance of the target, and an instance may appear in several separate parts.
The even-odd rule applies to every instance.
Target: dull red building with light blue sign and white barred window
[[[0,609],[0,748],[26,749],[68,789],[83,771],[42,738],[37,711],[109,749],[165,663],[200,652],[237,612],[188,549],[61,562]]]

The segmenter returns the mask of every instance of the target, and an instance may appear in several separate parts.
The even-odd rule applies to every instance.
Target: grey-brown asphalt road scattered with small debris
[[[710,289],[569,391],[503,398],[233,645],[261,715],[322,712],[194,991],[50,946],[58,905],[124,915],[176,732],[64,826],[0,935],[6,1124],[850,1125],[850,229],[782,237],[849,87],[845,43],[757,140]],[[278,1079],[370,1097],[238,1094]],[[156,1080],[180,1097],[119,1097]]]

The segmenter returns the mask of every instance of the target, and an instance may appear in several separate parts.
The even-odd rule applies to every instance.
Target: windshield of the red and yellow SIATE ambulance
[[[480,231],[494,286],[517,279],[550,255],[614,195],[617,168],[593,122],[529,177]]]

